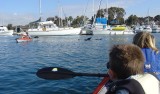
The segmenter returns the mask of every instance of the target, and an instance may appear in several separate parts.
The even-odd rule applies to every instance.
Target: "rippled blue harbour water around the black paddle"
[[[159,36],[155,34],[158,48]],[[35,73],[55,66],[74,72],[106,73],[110,47],[131,43],[133,35],[49,36],[26,43],[16,43],[17,37],[0,36],[0,94],[90,94],[102,78],[44,80]],[[89,37],[90,41],[84,41]]]

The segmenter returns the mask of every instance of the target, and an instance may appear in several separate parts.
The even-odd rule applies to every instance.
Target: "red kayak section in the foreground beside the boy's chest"
[[[104,77],[97,86],[97,88],[94,90],[93,94],[105,94],[107,92],[105,84],[109,81],[110,81],[109,77]]]

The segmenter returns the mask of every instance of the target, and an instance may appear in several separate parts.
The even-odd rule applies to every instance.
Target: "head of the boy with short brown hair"
[[[143,73],[144,57],[141,49],[134,44],[114,45],[109,53],[108,65],[118,79],[125,79]]]

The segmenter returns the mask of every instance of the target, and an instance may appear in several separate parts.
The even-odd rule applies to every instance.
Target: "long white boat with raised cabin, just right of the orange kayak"
[[[59,28],[52,21],[37,22],[36,28],[28,29],[30,36],[64,36],[78,35],[81,28]]]

